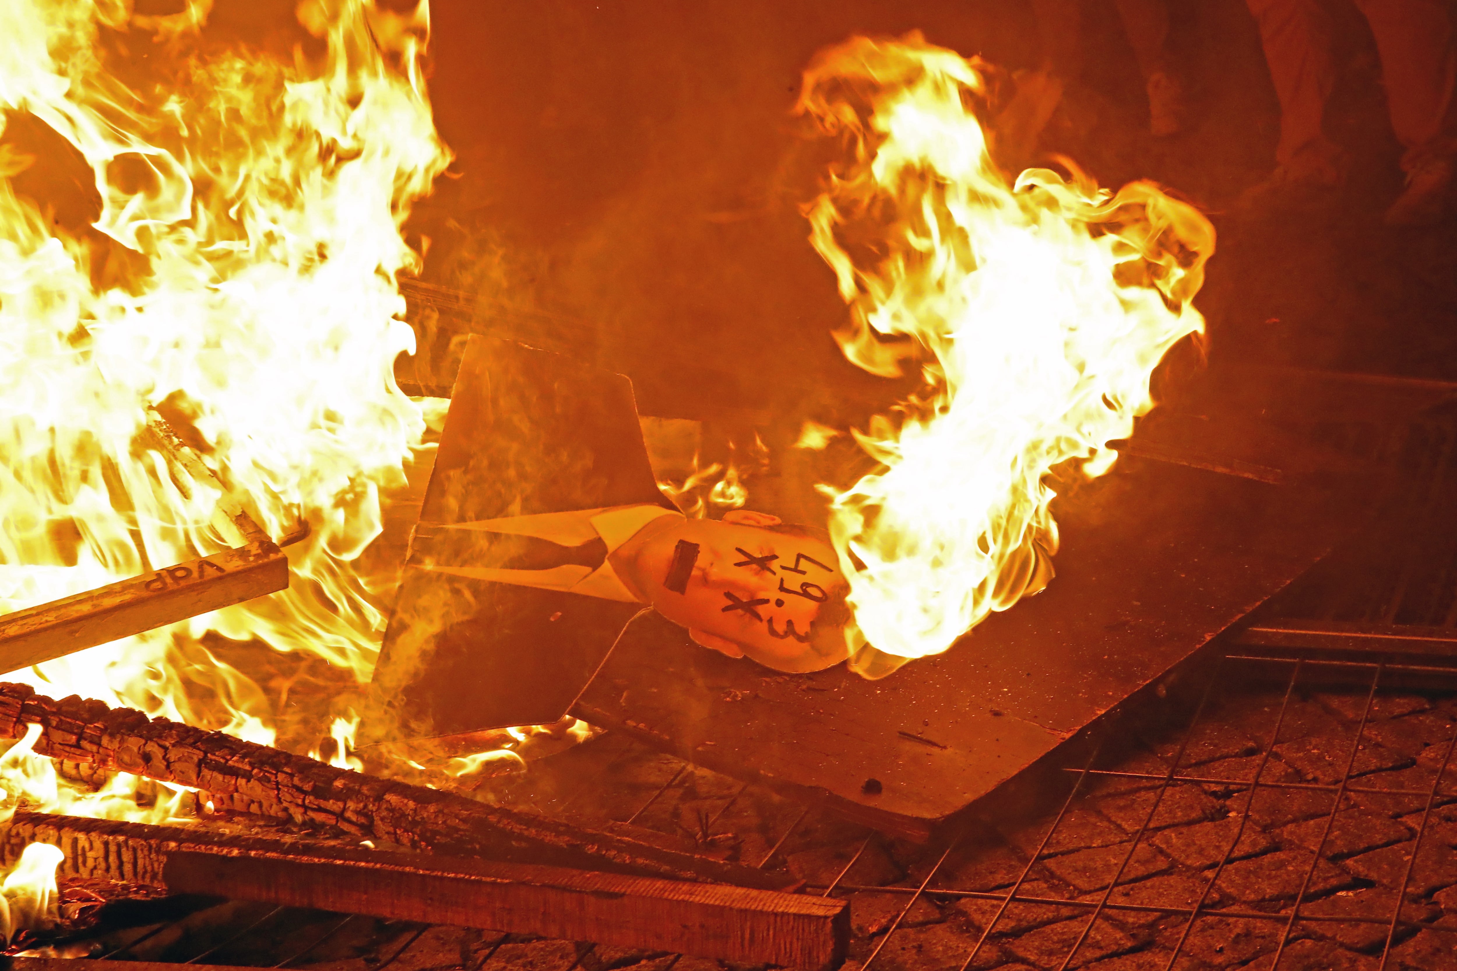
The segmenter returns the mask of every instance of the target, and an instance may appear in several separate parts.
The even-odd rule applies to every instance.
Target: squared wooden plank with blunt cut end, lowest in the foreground
[[[67,876],[749,964],[830,968],[849,938],[848,903],[766,889],[47,814],[16,815],[6,862],[35,841]]]

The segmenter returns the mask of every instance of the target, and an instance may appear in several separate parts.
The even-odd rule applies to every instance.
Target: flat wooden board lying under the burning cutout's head
[[[1052,585],[947,654],[881,681],[775,675],[647,617],[574,713],[925,839],[1304,572],[1343,534],[1340,508],[1323,492],[1125,457],[1056,502]]]

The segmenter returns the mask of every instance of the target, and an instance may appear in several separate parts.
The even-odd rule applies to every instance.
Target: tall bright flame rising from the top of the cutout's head
[[[833,495],[830,520],[851,648],[899,658],[946,651],[1040,588],[1058,546],[1049,470],[1104,473],[1107,443],[1152,406],[1154,367],[1203,329],[1190,300],[1209,221],[1067,160],[1069,178],[1008,178],[979,119],[986,77],[918,33],[855,38],[814,58],[798,102],[849,150],[807,208],[851,307],[839,345],[874,374],[924,379],[857,432],[881,467]]]

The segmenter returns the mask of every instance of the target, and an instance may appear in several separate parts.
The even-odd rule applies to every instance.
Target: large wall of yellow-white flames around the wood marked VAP
[[[270,742],[262,690],[198,638],[373,667],[385,617],[351,563],[425,428],[392,373],[414,349],[396,275],[420,262],[401,227],[450,160],[418,63],[428,4],[305,0],[318,44],[288,61],[204,44],[210,0],[131,6],[0,4],[6,121],[74,150],[0,141],[0,613],[226,543],[217,492],[184,495],[141,447],[149,408],[270,534],[312,533],[286,594],[7,677]],[[90,227],[19,188],[66,165],[89,169]]]

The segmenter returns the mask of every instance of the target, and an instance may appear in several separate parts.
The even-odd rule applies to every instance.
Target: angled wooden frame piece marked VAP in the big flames
[[[192,495],[194,483],[223,495],[214,520],[221,518],[242,543],[0,617],[0,671],[19,671],[287,590],[288,558],[160,415],[152,415],[143,440],[166,460],[184,495]]]

